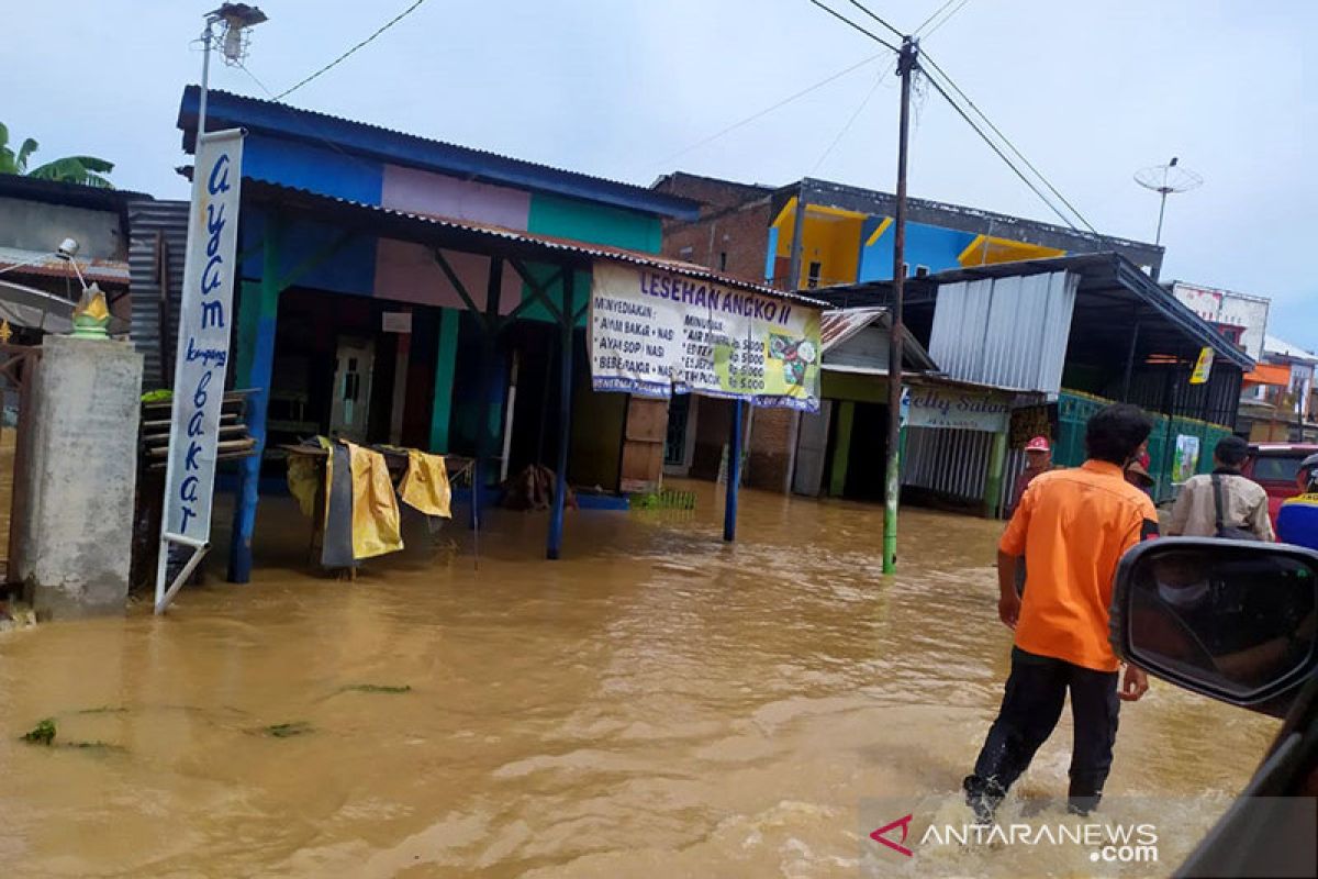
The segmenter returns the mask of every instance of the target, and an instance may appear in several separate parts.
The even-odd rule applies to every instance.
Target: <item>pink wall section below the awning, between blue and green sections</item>
[[[484,311],[489,257],[452,250],[445,250],[444,256],[448,257],[453,273],[463,282],[472,302]],[[444,308],[467,307],[430,250],[419,244],[391,239],[380,239],[380,246],[376,250],[376,298]],[[500,314],[506,315],[521,302],[522,277],[511,266],[505,265]]]

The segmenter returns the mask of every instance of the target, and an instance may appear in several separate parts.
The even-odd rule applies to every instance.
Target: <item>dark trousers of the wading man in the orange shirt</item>
[[[1070,805],[1079,812],[1098,805],[1116,742],[1116,676],[1012,647],[1002,708],[975,760],[975,774],[965,781],[966,793],[990,807],[1006,796],[1056,729],[1069,689],[1075,721]]]

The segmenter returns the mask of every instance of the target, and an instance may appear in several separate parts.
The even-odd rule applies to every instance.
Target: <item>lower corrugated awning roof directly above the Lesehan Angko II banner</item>
[[[246,177],[243,178],[243,187],[244,199],[252,199],[258,204],[281,211],[310,213],[319,223],[340,224],[377,237],[410,241],[445,250],[571,265],[579,269],[589,269],[596,260],[609,260],[655,271],[670,271],[725,287],[749,290],[815,308],[826,307],[824,302],[811,297],[751,283],[658,253],[559,239],[471,220],[410,213]]]

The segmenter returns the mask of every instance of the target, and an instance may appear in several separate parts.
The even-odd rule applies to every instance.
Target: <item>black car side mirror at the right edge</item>
[[[1112,590],[1116,652],[1157,677],[1284,714],[1318,671],[1318,552],[1161,538],[1122,559]]]

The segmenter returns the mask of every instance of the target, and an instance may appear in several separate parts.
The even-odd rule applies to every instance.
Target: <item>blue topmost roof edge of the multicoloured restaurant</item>
[[[198,95],[196,86],[187,86],[179,101],[178,127],[183,129],[183,149],[187,152],[192,152]],[[262,116],[268,111],[274,111],[274,115]],[[214,88],[207,94],[207,120],[208,130],[215,130],[216,125],[231,124],[253,130],[283,133],[303,140],[322,141],[340,152],[347,149],[349,153],[356,152],[358,156],[372,156],[401,165],[469,175],[496,183],[561,191],[575,198],[616,203],[631,210],[651,211],[685,220],[695,220],[700,212],[699,202],[656,192],[646,186],[610,181],[581,171],[529,162],[382,125]],[[341,137],[336,137],[336,134],[341,134]],[[370,148],[348,142],[351,134],[377,138],[385,136],[387,141],[377,141],[374,148]]]

